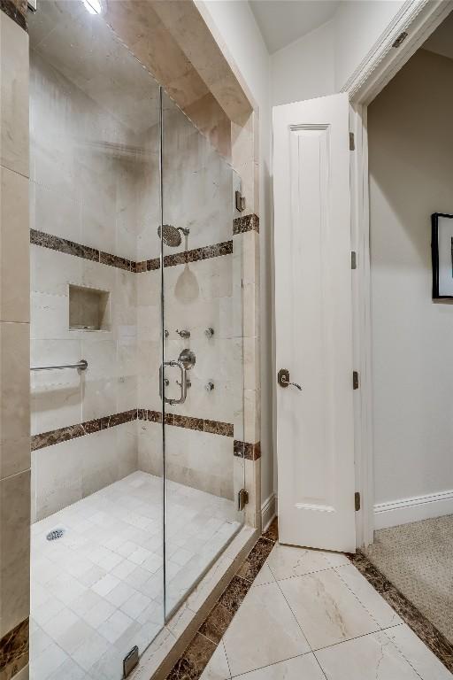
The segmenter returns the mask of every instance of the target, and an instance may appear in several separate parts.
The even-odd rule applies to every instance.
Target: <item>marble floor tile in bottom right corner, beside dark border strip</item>
[[[451,680],[453,677],[405,623],[385,630],[385,634],[423,680]]]

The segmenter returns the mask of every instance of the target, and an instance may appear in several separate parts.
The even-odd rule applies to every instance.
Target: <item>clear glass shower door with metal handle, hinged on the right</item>
[[[234,456],[234,438],[242,439],[242,253],[233,235],[239,179],[165,93],[162,144],[168,618],[243,522],[243,460]]]

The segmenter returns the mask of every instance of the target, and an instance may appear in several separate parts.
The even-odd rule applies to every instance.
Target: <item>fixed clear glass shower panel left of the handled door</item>
[[[36,680],[120,680],[165,622],[160,88],[90,6],[28,17]]]

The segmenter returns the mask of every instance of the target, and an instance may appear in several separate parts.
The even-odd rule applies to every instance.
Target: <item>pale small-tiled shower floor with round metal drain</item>
[[[231,500],[175,482],[165,491],[170,611],[240,523]],[[162,479],[134,472],[33,525],[32,680],[120,680],[121,660],[150,644],[164,623],[162,517]]]

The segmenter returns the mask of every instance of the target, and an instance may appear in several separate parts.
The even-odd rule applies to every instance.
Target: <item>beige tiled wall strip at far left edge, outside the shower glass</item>
[[[25,680],[30,554],[28,35],[0,2],[0,674]]]

